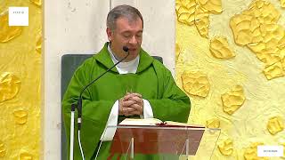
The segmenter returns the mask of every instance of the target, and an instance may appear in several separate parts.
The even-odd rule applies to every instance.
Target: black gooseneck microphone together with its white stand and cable
[[[85,92],[85,90],[91,85],[94,84],[99,78],[104,76],[107,72],[110,71],[110,69],[115,68],[118,63],[120,63],[123,60],[126,60],[126,57],[130,54],[128,52],[128,48],[126,46],[123,46],[124,52],[126,52],[126,56],[122,60],[118,60],[116,64],[114,64],[111,68],[107,69],[105,72],[102,73],[102,75],[96,77],[91,83],[87,84],[82,91],[80,92],[77,100],[77,104],[71,105],[71,116],[70,116],[70,150],[69,150],[69,160],[73,160],[73,151],[74,151],[74,114],[75,114],[75,108],[77,108],[77,139],[79,143],[80,153],[82,156],[82,159],[85,160],[85,156],[83,153],[82,145],[81,145],[81,139],[80,139],[80,130],[81,130],[81,116],[82,116],[82,94]]]

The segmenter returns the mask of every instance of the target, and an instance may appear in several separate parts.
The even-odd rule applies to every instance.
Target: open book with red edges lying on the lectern
[[[119,123],[119,125],[205,128],[204,126],[199,124],[185,124],[174,121],[162,122],[157,118],[126,118],[121,123]]]

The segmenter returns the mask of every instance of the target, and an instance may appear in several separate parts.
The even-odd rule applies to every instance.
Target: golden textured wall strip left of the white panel
[[[8,26],[9,6],[28,6],[28,27]],[[40,158],[41,34],[40,0],[0,1],[0,160]]]

